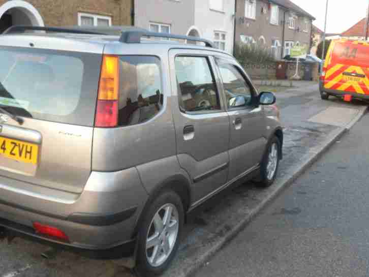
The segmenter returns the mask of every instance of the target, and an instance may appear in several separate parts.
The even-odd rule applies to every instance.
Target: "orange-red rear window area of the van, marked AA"
[[[369,68],[369,47],[352,42],[336,42],[333,48],[333,64]]]

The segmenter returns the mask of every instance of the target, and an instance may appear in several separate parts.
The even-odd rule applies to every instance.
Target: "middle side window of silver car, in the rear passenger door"
[[[188,112],[221,109],[216,82],[206,57],[176,57],[175,74],[181,109]]]

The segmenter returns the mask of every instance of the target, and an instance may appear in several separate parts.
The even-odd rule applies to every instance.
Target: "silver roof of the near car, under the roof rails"
[[[44,29],[47,27],[40,27],[40,29]],[[35,28],[36,29],[36,28]],[[140,40],[137,43],[126,43],[121,41],[121,37],[118,34],[135,34],[138,32],[145,33],[147,30],[132,26],[114,26],[114,27],[89,27],[89,28],[80,28],[80,27],[68,27],[65,28],[50,28],[56,29],[57,31],[53,31],[52,33],[42,32],[38,29],[25,32],[25,33],[7,33],[0,35],[0,46],[29,46],[33,44],[35,48],[42,49],[55,49],[55,50],[70,50],[77,52],[90,52],[90,53],[103,53],[104,49],[116,49],[118,46],[130,48],[134,45],[135,48],[148,48],[151,49],[152,53],[155,53],[155,49],[162,48],[162,50],[169,50],[171,48],[182,48],[182,49],[201,49],[201,50],[210,50],[216,51],[219,53],[230,55],[228,52],[214,48],[214,47],[205,47],[196,44],[187,44],[183,43],[183,39],[175,39],[176,37],[185,36],[175,36],[174,39],[168,40],[149,40],[144,39]],[[64,30],[67,30],[64,32]],[[68,33],[68,30],[82,30],[81,32],[86,33]],[[101,34],[100,34],[101,33]],[[154,34],[154,33],[147,33]],[[160,37],[161,35],[159,35]],[[186,37],[191,38],[192,37]],[[203,40],[199,38],[199,40]],[[206,41],[206,40],[203,40]],[[181,43],[182,42],[182,43]],[[149,45],[149,47],[147,47]],[[110,50],[112,51],[112,50]],[[117,53],[118,54],[118,53]],[[231,56],[231,55],[230,55]]]

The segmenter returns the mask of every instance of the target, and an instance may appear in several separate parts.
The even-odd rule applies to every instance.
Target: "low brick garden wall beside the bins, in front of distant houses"
[[[281,63],[279,61],[278,63]],[[284,61],[287,64],[287,79],[292,78],[296,73],[296,63],[294,61]],[[307,63],[306,63],[307,64]],[[301,79],[304,79],[305,63],[299,63],[298,75]],[[319,64],[309,63],[312,70],[312,77],[314,81],[319,80]],[[262,80],[273,80],[276,79],[277,62],[271,64],[248,64],[244,66],[245,71],[249,74],[252,79],[262,79]]]

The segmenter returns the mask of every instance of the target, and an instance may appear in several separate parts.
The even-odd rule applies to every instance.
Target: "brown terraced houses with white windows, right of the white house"
[[[310,48],[315,18],[290,0],[237,0],[236,43],[264,44],[275,58],[290,54],[294,45]]]

